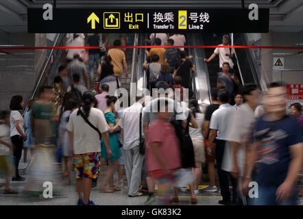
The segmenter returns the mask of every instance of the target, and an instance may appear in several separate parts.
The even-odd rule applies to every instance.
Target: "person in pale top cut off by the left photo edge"
[[[10,113],[1,112],[0,121],[0,173],[5,174],[5,190],[3,194],[18,194],[10,188],[10,179],[14,175],[12,162],[12,142],[10,142]]]

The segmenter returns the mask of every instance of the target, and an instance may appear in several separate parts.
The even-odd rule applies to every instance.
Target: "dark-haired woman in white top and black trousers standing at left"
[[[10,140],[14,145],[14,157],[15,157],[15,177],[12,181],[24,181],[25,178],[21,177],[18,172],[19,161],[21,159],[23,150],[23,141],[27,140],[24,131],[24,121],[19,110],[23,110],[24,100],[20,95],[13,96],[10,100]]]

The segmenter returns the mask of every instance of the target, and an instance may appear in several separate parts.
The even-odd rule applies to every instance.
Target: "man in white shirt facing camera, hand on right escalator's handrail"
[[[230,37],[228,35],[224,35],[222,38],[222,44],[219,46],[229,46],[228,42]],[[210,63],[216,55],[219,55],[219,67],[222,68],[224,62],[228,62],[230,64],[230,68],[234,68],[234,62],[232,62],[232,58],[234,57],[234,49],[230,48],[216,48],[213,55],[211,55],[208,59],[205,58],[204,62]]]

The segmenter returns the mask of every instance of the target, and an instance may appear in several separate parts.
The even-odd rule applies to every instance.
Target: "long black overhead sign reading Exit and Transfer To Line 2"
[[[29,33],[267,33],[269,9],[258,15],[241,8],[96,9],[56,8],[45,20],[42,8],[27,10]],[[251,16],[249,16],[251,14]],[[47,16],[46,16],[47,18]]]

